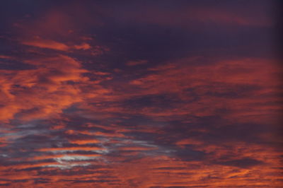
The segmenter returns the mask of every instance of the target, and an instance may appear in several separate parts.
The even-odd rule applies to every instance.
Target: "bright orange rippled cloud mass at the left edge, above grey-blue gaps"
[[[3,121],[13,119],[15,115],[28,120],[59,114],[70,105],[95,95],[96,92],[92,95],[82,93],[85,86],[92,84],[91,87],[99,87],[83,76],[88,71],[71,57],[39,57],[26,62],[35,66],[35,69],[1,70],[0,119]]]

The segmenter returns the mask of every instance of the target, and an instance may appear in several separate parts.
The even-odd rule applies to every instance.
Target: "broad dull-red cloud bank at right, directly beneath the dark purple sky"
[[[194,96],[185,95],[185,90],[193,90],[192,95],[196,95],[199,100],[168,111],[146,107],[141,109],[141,113],[162,117],[170,117],[174,114],[207,116],[215,114],[217,109],[226,108],[231,111],[222,114],[223,116],[243,122],[255,121],[255,117],[262,117],[263,114],[271,115],[272,119],[281,109],[276,103],[268,107],[261,105],[263,101],[267,104],[279,100],[279,95],[276,95],[279,93],[279,69],[276,68],[275,62],[270,60],[238,59],[203,66],[175,64],[175,67],[164,67],[160,66],[153,74],[130,81],[130,84],[141,88],[139,95],[175,93],[180,100],[190,100]],[[249,92],[253,93],[253,98],[246,94]],[[275,95],[269,97],[267,93]],[[270,114],[270,110],[274,110],[273,115]]]

